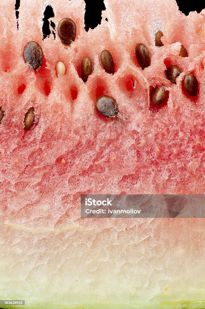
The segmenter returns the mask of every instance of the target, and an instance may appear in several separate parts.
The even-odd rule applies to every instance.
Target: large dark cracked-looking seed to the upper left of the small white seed
[[[38,71],[43,61],[43,50],[40,45],[34,41],[28,42],[23,49],[23,59],[34,71]]]

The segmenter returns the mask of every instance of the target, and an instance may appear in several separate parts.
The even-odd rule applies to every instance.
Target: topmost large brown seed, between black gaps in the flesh
[[[69,46],[76,38],[76,24],[70,18],[63,18],[58,23],[57,32],[61,43]]]

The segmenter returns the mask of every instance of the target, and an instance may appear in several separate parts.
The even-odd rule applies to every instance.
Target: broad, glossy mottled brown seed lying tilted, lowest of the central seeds
[[[114,118],[118,114],[118,104],[109,95],[101,95],[97,98],[95,106],[102,115],[107,118]]]

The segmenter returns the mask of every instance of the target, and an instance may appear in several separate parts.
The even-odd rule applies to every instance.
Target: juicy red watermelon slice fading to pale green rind
[[[20,1],[18,31],[15,1],[0,4],[0,299],[25,300],[2,308],[205,308],[203,218],[80,213],[81,194],[204,194],[205,10],[185,16],[174,0],[104,3],[101,24],[86,32],[83,0],[50,0],[47,38],[44,0]],[[64,18],[77,29],[69,46],[57,35]],[[24,61],[31,41],[43,51],[39,70]],[[137,44],[150,57],[143,69]],[[65,74],[56,74],[59,62]],[[102,95],[117,102],[116,117],[98,112]]]

